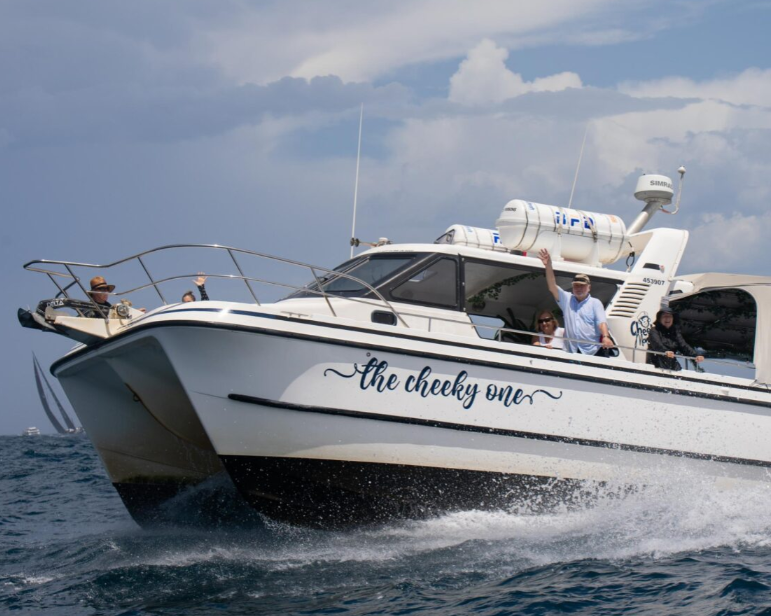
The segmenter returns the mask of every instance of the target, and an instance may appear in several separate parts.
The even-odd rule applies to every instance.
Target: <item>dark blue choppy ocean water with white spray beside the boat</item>
[[[0,613],[769,614],[771,490],[548,515],[143,531],[86,437],[0,437]]]

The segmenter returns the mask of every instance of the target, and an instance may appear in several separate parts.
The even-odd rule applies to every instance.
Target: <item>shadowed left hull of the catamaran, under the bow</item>
[[[229,501],[238,509],[241,498],[217,479],[225,470],[155,340],[104,345],[60,362],[55,374],[138,524],[206,525],[226,515]],[[208,485],[209,504],[186,504],[200,505]]]

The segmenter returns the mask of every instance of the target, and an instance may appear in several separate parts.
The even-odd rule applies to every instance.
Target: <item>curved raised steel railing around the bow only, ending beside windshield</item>
[[[192,276],[195,276],[196,274],[185,274],[185,275],[175,275],[175,276],[169,276],[162,279],[156,280],[153,275],[150,273],[150,270],[147,267],[147,263],[145,262],[145,257],[151,254],[157,254],[161,252],[166,251],[172,251],[172,250],[179,250],[179,249],[188,249],[188,248],[205,248],[205,249],[211,249],[211,250],[219,250],[224,251],[228,254],[231,261],[233,262],[233,265],[235,266],[236,270],[238,271],[238,274],[207,274],[207,278],[226,278],[226,279],[232,279],[232,280],[241,280],[246,285],[247,290],[249,291],[249,294],[254,299],[254,302],[259,306],[260,300],[257,297],[257,294],[254,291],[254,288],[252,287],[252,282],[255,283],[261,283],[266,284],[270,286],[275,287],[284,287],[287,289],[292,289],[295,291],[305,291],[312,294],[320,295],[324,298],[324,300],[327,303],[327,306],[329,307],[330,312],[334,316],[337,316],[335,309],[332,305],[332,302],[330,301],[330,297],[344,297],[345,299],[358,299],[358,298],[351,298],[347,295],[338,295],[334,292],[329,292],[325,289],[325,286],[332,282],[334,279],[338,278],[345,278],[347,280],[351,280],[352,282],[361,285],[363,288],[367,289],[369,293],[374,295],[379,302],[382,303],[383,306],[387,308],[388,311],[393,313],[394,317],[397,318],[402,325],[405,327],[409,327],[407,322],[404,320],[401,314],[391,305],[391,303],[383,297],[383,295],[375,289],[371,284],[368,282],[365,282],[364,280],[361,280],[360,278],[357,278],[355,276],[351,276],[350,274],[346,274],[344,272],[339,272],[336,270],[327,269],[325,267],[321,267],[319,265],[311,265],[309,263],[303,263],[301,261],[294,261],[292,259],[286,259],[284,257],[277,257],[275,255],[269,255],[266,253],[256,252],[254,250],[246,250],[243,248],[235,248],[232,246],[220,246],[219,244],[169,244],[167,246],[159,246],[158,248],[152,248],[150,250],[145,250],[143,252],[131,255],[129,257],[125,257],[123,259],[119,259],[118,261],[114,261],[112,263],[107,264],[96,264],[96,263],[79,263],[76,261],[57,261],[57,260],[50,260],[50,259],[36,259],[34,261],[29,261],[28,263],[24,264],[24,269],[32,272],[39,272],[42,274],[45,274],[48,276],[48,278],[51,280],[51,282],[56,286],[56,288],[59,291],[59,295],[64,296],[66,298],[70,298],[69,290],[76,286],[79,288],[86,298],[88,298],[88,301],[91,302],[91,304],[94,306],[94,308],[97,310],[98,314],[102,316],[105,320],[109,317],[108,313],[104,311],[102,306],[100,306],[97,302],[94,301],[94,299],[91,297],[90,293],[86,290],[85,286],[83,285],[81,279],[79,276],[76,275],[75,270],[78,268],[87,268],[91,270],[108,270],[110,268],[116,267],[118,265],[124,265],[126,263],[130,263],[132,261],[137,262],[142,271],[145,273],[145,275],[148,278],[148,281],[146,284],[134,287],[132,289],[127,289],[125,291],[117,291],[110,293],[110,295],[115,296],[124,296],[124,295],[130,295],[132,293],[136,293],[138,291],[142,291],[148,288],[153,288],[155,292],[158,294],[158,297],[161,299],[161,302],[163,302],[164,305],[168,305],[169,302],[166,301],[166,298],[163,295],[163,292],[161,290],[161,285],[173,280],[180,280],[184,278],[190,278]],[[272,261],[275,263],[281,263],[284,265],[291,265],[294,267],[304,268],[309,271],[309,273],[313,276],[313,279],[316,282],[317,290],[312,289],[310,286],[301,287],[297,285],[290,285],[287,283],[278,283],[271,280],[246,276],[244,274],[244,270],[242,268],[241,262],[236,258],[236,255],[248,255],[252,257],[257,257],[259,259],[265,259],[268,261]],[[59,265],[63,267],[66,270],[65,272],[52,270],[50,269],[50,266]],[[321,278],[319,277],[319,274],[321,274]],[[329,276],[329,278],[324,279],[325,276]],[[69,279],[70,282],[68,284],[65,284],[62,286],[57,282],[57,278],[65,278]]]

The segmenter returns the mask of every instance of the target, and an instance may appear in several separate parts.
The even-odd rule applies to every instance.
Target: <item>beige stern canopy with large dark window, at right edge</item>
[[[685,339],[712,357],[753,361],[755,379],[771,384],[771,278],[738,274],[679,276],[689,293],[670,295]]]

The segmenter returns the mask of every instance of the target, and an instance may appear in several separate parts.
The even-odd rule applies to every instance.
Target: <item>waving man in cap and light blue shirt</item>
[[[602,302],[592,297],[592,281],[586,274],[576,274],[573,277],[573,293],[568,293],[557,285],[551,255],[545,248],[538,256],[546,269],[546,284],[562,309],[565,320],[565,336],[573,340],[565,340],[565,350],[570,353],[584,355],[602,355],[605,349],[613,348],[613,341],[608,333],[608,321]],[[593,342],[596,340],[597,342]]]

